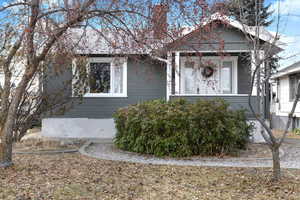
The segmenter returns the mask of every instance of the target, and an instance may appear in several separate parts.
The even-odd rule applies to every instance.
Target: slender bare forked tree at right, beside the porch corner
[[[239,6],[239,13],[240,19],[245,19],[246,16],[243,16],[243,4],[240,1],[236,1],[237,5]],[[273,158],[273,180],[278,181],[281,177],[281,170],[280,170],[280,153],[279,148],[284,142],[284,139],[288,133],[288,129],[295,112],[295,108],[297,106],[300,89],[298,84],[296,98],[293,103],[293,108],[289,113],[288,122],[286,124],[284,134],[280,138],[276,138],[270,128],[270,124],[265,117],[264,108],[265,108],[265,98],[268,95],[269,89],[269,81],[272,76],[274,70],[270,63],[274,56],[281,50],[278,45],[280,44],[279,41],[279,26],[280,26],[280,8],[278,8],[278,18],[276,19],[275,23],[277,23],[277,31],[275,35],[270,35],[264,29],[264,21],[261,19],[262,15],[262,1],[256,0],[255,1],[255,13],[252,13],[252,19],[255,19],[254,26],[247,26],[241,23],[243,26],[243,30],[245,36],[249,40],[250,50],[251,50],[251,68],[252,68],[252,76],[251,76],[251,89],[248,95],[248,103],[252,114],[255,116],[256,120],[261,125],[260,133],[264,138],[266,144],[270,148],[272,152]],[[251,34],[249,34],[249,32]],[[262,37],[268,40],[268,42],[263,42]],[[256,99],[258,103],[257,109],[255,109],[254,102],[252,102],[252,97]]]

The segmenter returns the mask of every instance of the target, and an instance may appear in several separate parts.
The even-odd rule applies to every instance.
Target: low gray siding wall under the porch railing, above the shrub
[[[211,100],[211,99],[222,98],[230,104],[231,109],[233,110],[246,109],[247,110],[246,115],[248,119],[254,119],[254,116],[252,115],[249,109],[248,96],[172,96],[170,99],[178,99],[178,98],[184,98],[191,102],[196,102],[199,99]],[[255,111],[257,111],[256,98],[252,97],[251,102]]]

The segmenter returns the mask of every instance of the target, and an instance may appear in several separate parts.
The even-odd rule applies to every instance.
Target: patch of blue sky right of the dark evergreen
[[[269,31],[277,31],[278,13],[280,16],[278,33],[286,43],[285,50],[280,53],[280,68],[300,61],[300,0],[265,0],[265,4],[271,4],[270,9],[275,10],[274,22],[267,28]]]

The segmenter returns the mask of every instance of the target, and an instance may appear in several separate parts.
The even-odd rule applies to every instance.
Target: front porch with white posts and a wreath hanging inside
[[[248,105],[251,85],[251,51],[184,52],[168,53],[167,100],[184,98],[195,102],[199,99],[222,98],[234,110],[245,109],[249,119],[254,119]],[[256,88],[252,95],[256,95]],[[255,111],[258,102],[251,97]]]

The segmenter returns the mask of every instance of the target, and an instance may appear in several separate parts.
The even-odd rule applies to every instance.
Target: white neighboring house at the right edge
[[[292,110],[300,80],[300,62],[296,62],[274,74],[271,78],[271,125],[273,129],[284,130],[288,114]],[[298,103],[289,130],[300,128],[300,105]]]

